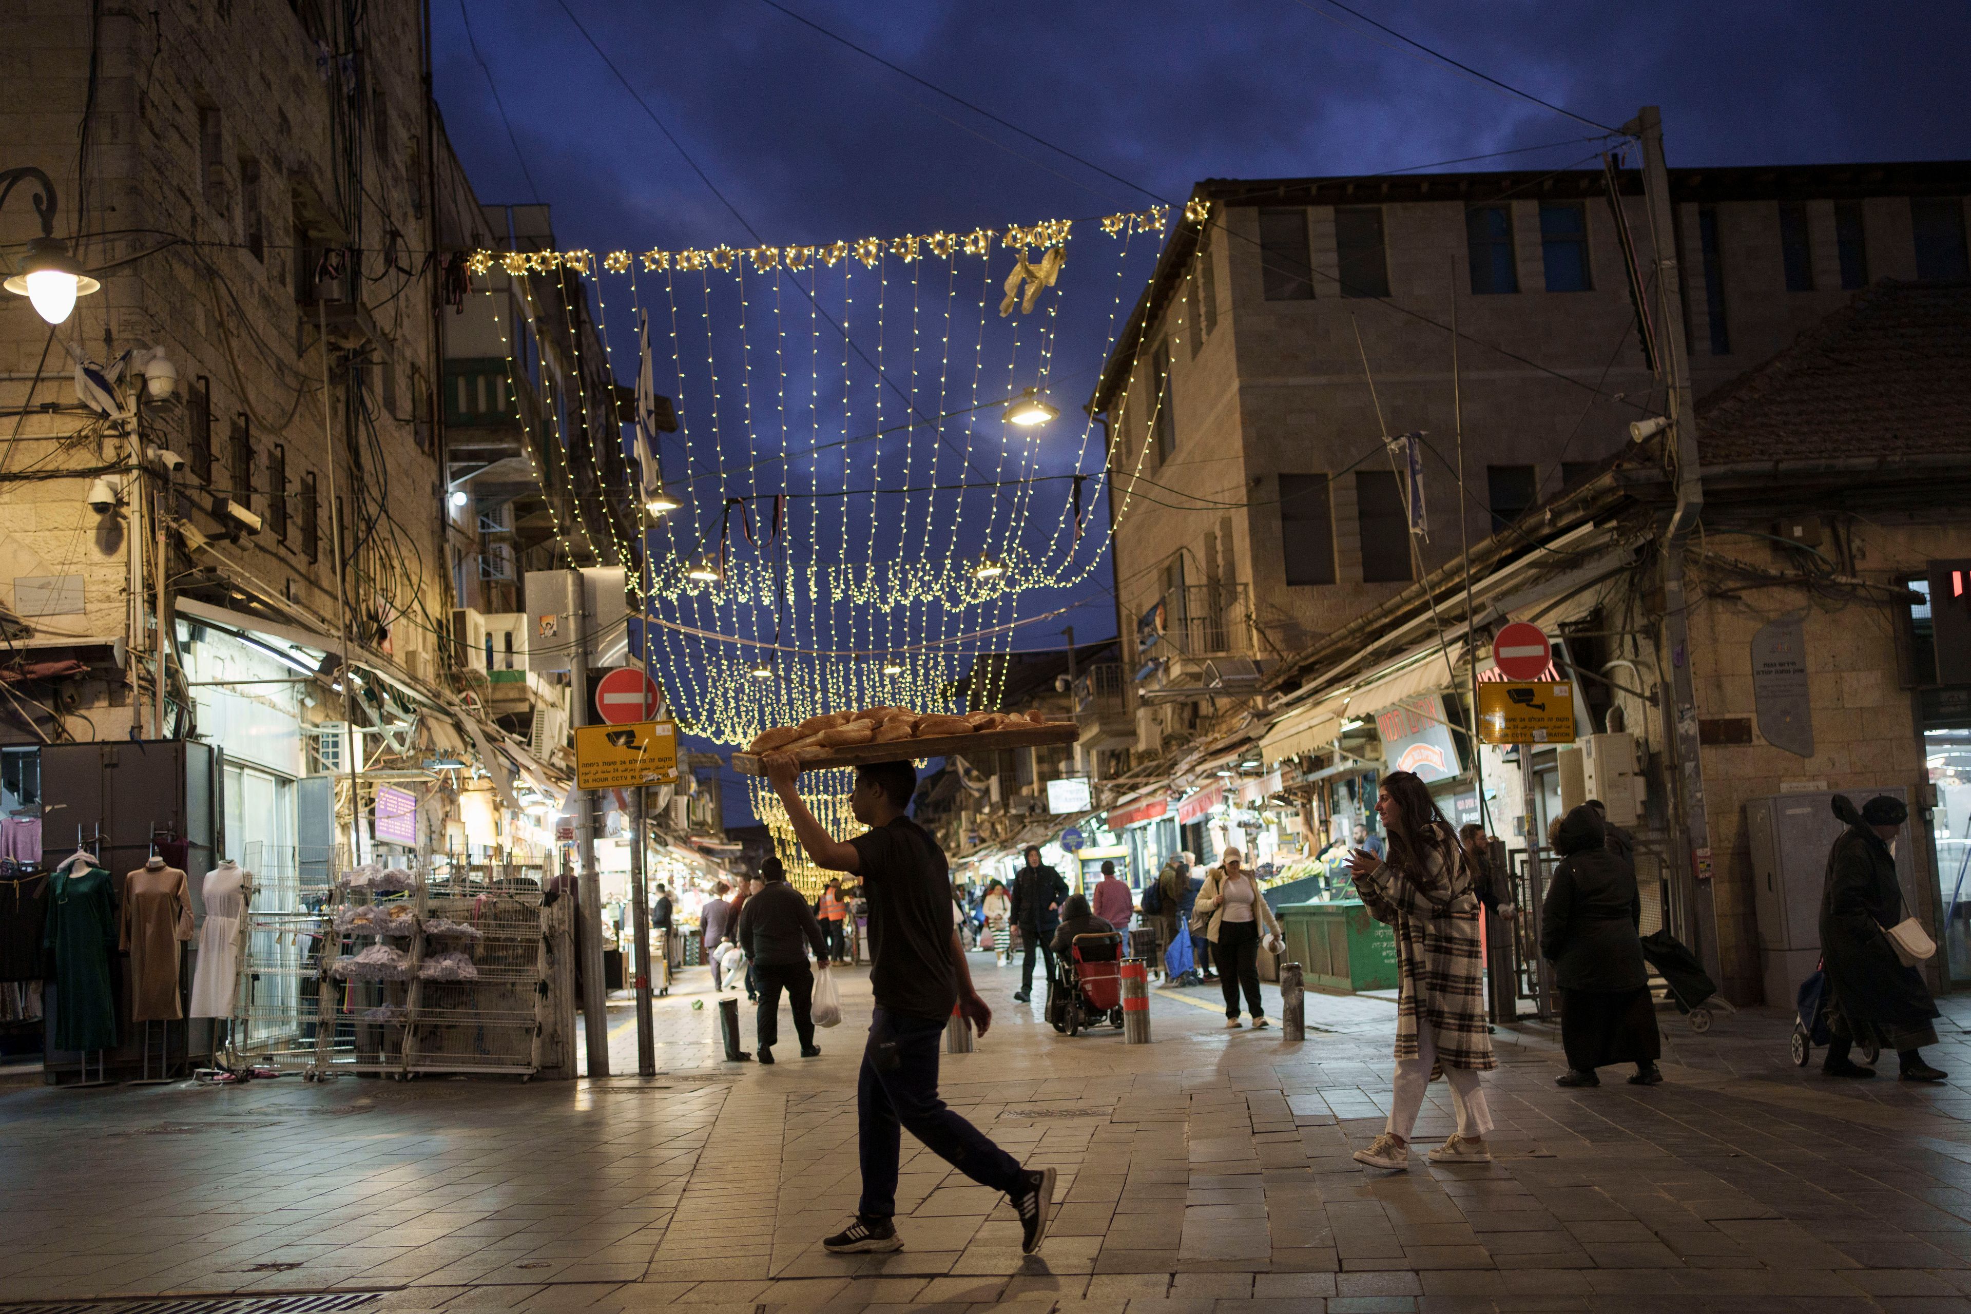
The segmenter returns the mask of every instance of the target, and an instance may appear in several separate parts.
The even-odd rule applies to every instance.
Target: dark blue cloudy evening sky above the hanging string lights
[[[485,69],[459,4],[434,4],[438,99],[453,146],[481,199],[550,203],[564,246],[749,246],[733,209],[761,240],[782,244],[1149,203],[765,0],[568,0],[729,209],[558,0],[465,2]],[[782,2],[1167,201],[1181,203],[1200,177],[1374,173],[1545,144],[1453,167],[1559,167],[1593,152],[1581,142],[1593,128],[1323,0]],[[1961,2],[1894,6],[1894,22],[1839,2],[1352,6],[1589,120],[1620,126],[1636,106],[1662,104],[1671,165],[1971,156],[1961,91],[1971,6]],[[1080,404],[1104,341],[1062,333],[1056,351],[1062,400]],[[617,357],[627,376],[633,359],[621,343]],[[1106,583],[1106,569],[1096,581]],[[1064,621],[1082,636],[1112,632],[1110,601],[1086,589],[1021,599],[1019,613],[1080,599]],[[1035,626],[1017,646],[1058,642],[1056,628]]]

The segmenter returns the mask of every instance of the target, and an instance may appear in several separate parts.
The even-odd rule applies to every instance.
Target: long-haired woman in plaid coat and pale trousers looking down
[[[1356,1160],[1407,1168],[1409,1133],[1437,1070],[1451,1082],[1459,1129],[1431,1150],[1431,1162],[1492,1160],[1492,1131],[1478,1074],[1496,1068],[1484,1015],[1484,959],[1478,952],[1478,894],[1457,831],[1415,774],[1392,770],[1376,794],[1390,859],[1356,849],[1348,857],[1356,890],[1378,922],[1395,928],[1403,989],[1395,1009],[1395,1082],[1390,1123]]]

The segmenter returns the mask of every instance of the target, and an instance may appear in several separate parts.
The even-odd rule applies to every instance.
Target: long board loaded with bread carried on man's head
[[[1070,745],[1076,739],[1080,727],[1072,721],[1041,721],[1037,713],[944,717],[917,715],[903,707],[875,707],[810,717],[798,727],[765,731],[745,751],[733,753],[731,764],[741,774],[765,776],[761,758],[769,753],[792,753],[802,770],[828,770],[863,762],[907,762],[946,753]]]

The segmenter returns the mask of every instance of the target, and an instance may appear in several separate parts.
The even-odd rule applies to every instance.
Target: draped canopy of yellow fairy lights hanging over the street
[[[1208,211],[1187,207],[1187,223],[1206,219]],[[560,280],[576,378],[544,380],[542,410],[566,473],[574,477],[572,463],[585,461],[579,473],[593,489],[605,487],[595,443],[572,441],[574,426],[562,416],[572,402],[583,431],[593,431],[570,274],[595,284],[607,378],[623,374],[607,329],[605,274],[627,276],[637,321],[652,325],[652,357],[658,341],[668,345],[678,431],[664,441],[666,493],[652,500],[645,532],[645,607],[654,621],[645,642],[684,729],[741,745],[769,725],[842,707],[997,707],[1007,664],[972,662],[950,640],[1011,621],[1031,589],[1088,577],[1127,510],[1161,404],[1153,386],[1133,459],[1098,449],[1100,473],[1082,475],[1090,443],[1102,441],[1092,416],[1078,445],[1039,441],[1058,416],[1045,394],[1062,303],[1078,282],[1090,286],[1086,276],[1062,276],[1066,254],[1076,254],[1076,266],[1090,254],[1070,246],[1074,223],[816,246],[615,250],[601,258],[585,250],[475,252],[467,260],[477,274],[518,282],[534,323],[542,297],[530,284]],[[1125,309],[1129,238],[1161,234],[1165,225],[1167,207],[1092,225],[1120,238],[1104,359],[1114,355]],[[1013,252],[1009,274],[995,268],[995,250]],[[980,262],[976,303],[960,292],[970,284],[968,260]],[[1129,343],[1118,435],[1133,429],[1121,420],[1147,333],[1141,325]],[[509,378],[516,335],[501,323]],[[802,364],[806,380],[798,378]],[[968,384],[964,372],[972,374]],[[968,394],[970,406],[950,410]],[[1041,471],[1066,461],[1068,447],[1072,500],[1043,506]],[[532,443],[526,453],[542,477]],[[1120,443],[1114,455],[1121,455]],[[928,491],[907,493],[920,479]],[[1110,481],[1123,489],[1110,489]],[[1112,514],[1084,526],[1104,493]],[[607,500],[603,532],[589,526],[579,496],[572,522],[554,496],[548,510],[556,544],[570,556],[579,536],[589,559],[637,561]],[[641,597],[643,581],[629,585]],[[834,656],[842,652],[859,656]],[[812,784],[822,796],[840,786],[838,821],[850,825],[848,778]],[[757,786],[753,794],[755,814],[773,825],[777,800]]]

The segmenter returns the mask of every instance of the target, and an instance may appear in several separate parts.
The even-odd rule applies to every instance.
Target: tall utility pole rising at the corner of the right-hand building
[[[1689,345],[1683,339],[1683,288],[1677,270],[1677,229],[1669,205],[1669,169],[1664,165],[1664,118],[1642,106],[1624,126],[1642,142],[1642,189],[1650,207],[1650,246],[1656,256],[1658,353],[1669,416],[1665,457],[1675,475],[1677,504],[1664,534],[1664,646],[1669,650],[1669,699],[1665,731],[1677,747],[1673,802],[1683,820],[1683,861],[1675,865],[1683,890],[1685,934],[1713,981],[1723,981],[1719,961],[1717,898],[1711,887],[1711,820],[1705,812],[1703,749],[1697,739],[1697,690],[1691,680],[1689,597],[1683,587],[1683,552],[1705,508],[1697,453],[1697,408],[1691,400]]]

